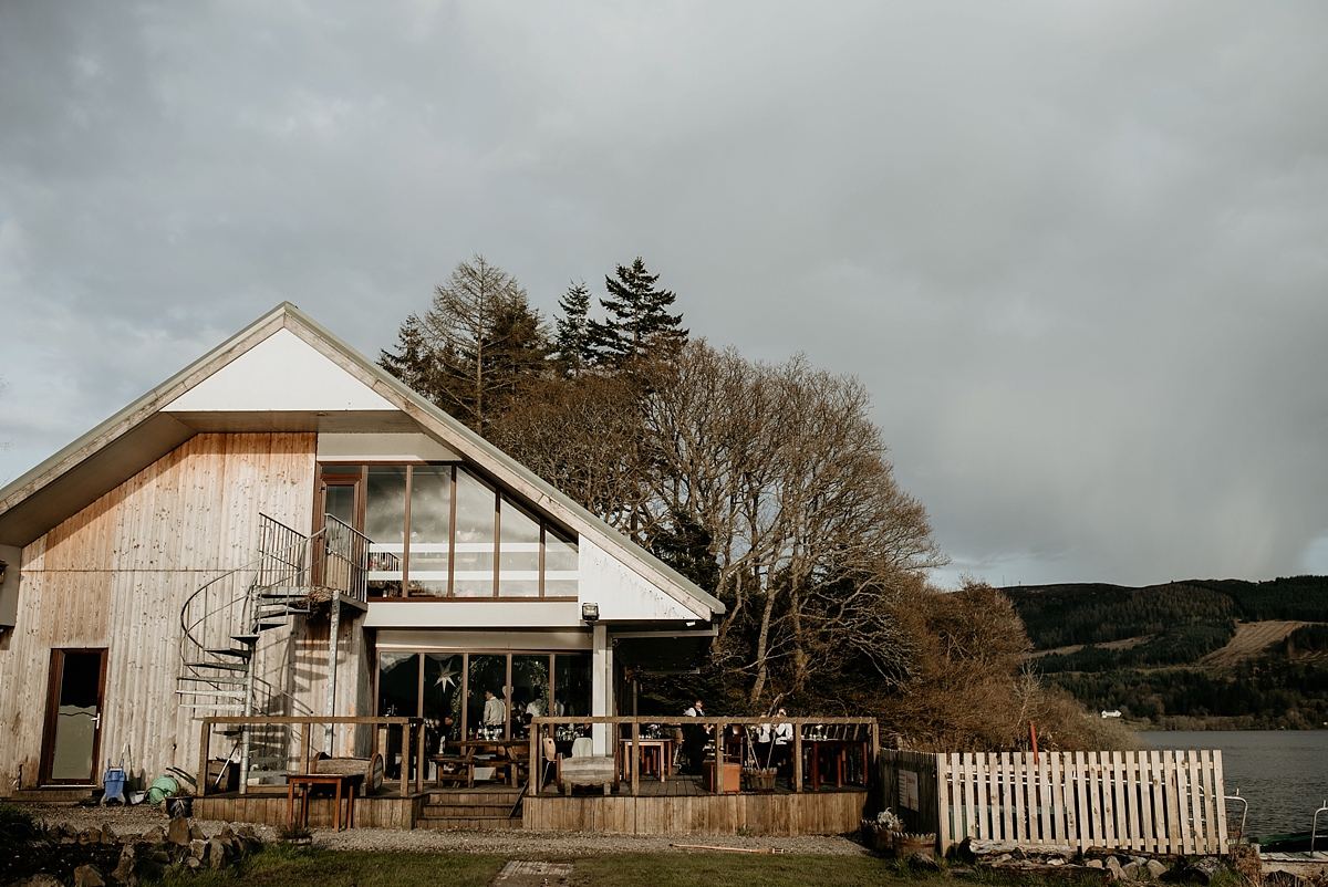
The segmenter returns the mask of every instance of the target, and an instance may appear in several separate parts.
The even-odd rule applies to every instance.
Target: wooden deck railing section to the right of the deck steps
[[[543,738],[546,736],[551,736],[551,732],[559,725],[574,728],[583,725],[606,725],[606,732],[614,744],[614,753],[611,757],[616,761],[620,750],[629,756],[631,793],[637,795],[640,794],[641,778],[641,740],[645,738],[641,736],[641,728],[653,726],[669,729],[701,725],[713,730],[713,737],[725,737],[725,741],[714,742],[714,749],[712,752],[714,766],[714,793],[724,794],[726,786],[725,767],[722,765],[725,760],[724,756],[729,746],[728,737],[730,736],[730,730],[736,728],[742,748],[749,748],[750,734],[756,729],[762,725],[777,726],[781,724],[789,724],[793,726],[793,738],[790,745],[793,746],[791,782],[794,791],[802,791],[805,777],[803,746],[807,745],[809,748],[814,748],[815,744],[825,742],[861,742],[863,748],[862,774],[863,783],[866,783],[867,775],[871,771],[870,762],[876,760],[876,752],[880,748],[876,720],[870,717],[535,717],[530,722],[530,773],[533,779],[538,779],[539,774],[543,773]],[[623,746],[625,746],[625,749]],[[746,756],[744,754],[742,757],[745,760]],[[620,767],[620,765],[622,761],[618,761],[616,766]],[[728,789],[732,790],[733,786],[729,786]]]

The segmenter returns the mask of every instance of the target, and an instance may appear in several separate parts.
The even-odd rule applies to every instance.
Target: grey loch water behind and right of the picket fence
[[[1250,802],[1247,835],[1309,831],[1315,810],[1328,799],[1328,730],[1145,732],[1153,749],[1222,749],[1226,793]],[[1231,825],[1239,805],[1228,805]],[[1328,813],[1319,817],[1328,829]]]

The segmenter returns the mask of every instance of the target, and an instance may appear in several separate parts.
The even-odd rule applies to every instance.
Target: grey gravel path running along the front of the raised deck
[[[120,837],[141,835],[154,826],[165,827],[170,818],[157,807],[72,807],[50,803],[16,803],[49,825],[66,825],[73,829],[110,826]],[[223,826],[235,823],[216,819],[194,819],[211,837]],[[254,826],[259,838],[275,841],[276,833],[268,826]],[[518,856],[522,859],[571,859],[624,852],[704,852],[675,850],[671,843],[708,845],[720,847],[744,847],[764,850],[780,847],[786,854],[818,854],[831,856],[857,856],[867,851],[862,845],[838,837],[802,838],[744,838],[738,835],[611,835],[583,831],[433,831],[414,829],[349,829],[333,831],[315,829],[313,845],[327,850],[388,850],[405,852],[482,852]]]

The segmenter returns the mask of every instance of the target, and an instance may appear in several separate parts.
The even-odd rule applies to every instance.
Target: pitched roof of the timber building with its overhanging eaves
[[[290,331],[376,397],[335,410],[193,409],[186,397],[280,331]],[[193,400],[197,400],[193,398]],[[385,409],[373,409],[378,405]],[[174,408],[173,408],[174,406]],[[699,616],[724,604],[535,475],[290,303],[282,303],[162,385],[0,489],[0,544],[25,546],[173,449],[208,432],[424,430],[556,521],[631,564]]]

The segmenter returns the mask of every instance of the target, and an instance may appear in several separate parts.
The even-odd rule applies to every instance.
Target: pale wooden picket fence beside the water
[[[938,754],[940,852],[965,838],[1227,852],[1222,752]]]

